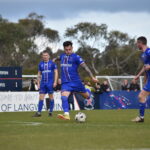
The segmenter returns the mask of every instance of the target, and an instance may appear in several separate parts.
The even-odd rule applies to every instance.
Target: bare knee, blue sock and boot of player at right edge
[[[145,114],[145,106],[146,106],[146,98],[150,92],[142,90],[138,96],[139,98],[139,116],[133,119],[133,122],[144,122],[144,114]]]

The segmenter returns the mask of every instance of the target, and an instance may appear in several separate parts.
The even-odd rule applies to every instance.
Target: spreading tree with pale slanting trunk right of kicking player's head
[[[79,44],[77,53],[81,55],[86,63],[94,72],[99,74],[100,66],[97,65],[98,59],[101,56],[100,48],[107,37],[107,25],[96,23],[79,23],[72,28],[67,28],[65,32],[66,37],[75,39]]]

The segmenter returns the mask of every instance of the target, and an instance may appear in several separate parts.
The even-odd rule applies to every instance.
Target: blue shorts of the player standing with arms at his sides
[[[53,84],[51,83],[41,83],[40,84],[40,94],[52,94],[53,93]]]

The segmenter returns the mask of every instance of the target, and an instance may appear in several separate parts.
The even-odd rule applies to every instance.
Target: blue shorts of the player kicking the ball
[[[81,81],[66,82],[61,85],[61,91],[86,93],[85,86]]]

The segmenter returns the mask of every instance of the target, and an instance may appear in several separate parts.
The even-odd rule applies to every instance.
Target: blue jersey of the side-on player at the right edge
[[[150,48],[147,48],[145,52],[141,54],[141,59],[144,65],[150,65]],[[148,79],[150,79],[150,70],[146,71]]]

